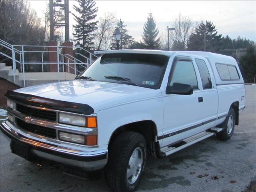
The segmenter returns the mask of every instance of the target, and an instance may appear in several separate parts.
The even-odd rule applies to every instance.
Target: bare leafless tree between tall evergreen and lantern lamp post
[[[111,46],[112,32],[116,23],[116,15],[107,12],[104,17],[99,19],[98,30],[95,37],[95,46],[97,50],[108,50]]]

